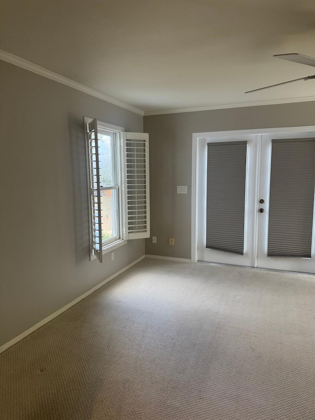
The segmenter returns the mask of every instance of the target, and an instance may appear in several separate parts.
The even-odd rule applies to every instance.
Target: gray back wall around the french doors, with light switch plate
[[[144,117],[150,134],[151,235],[146,254],[190,258],[192,133],[315,125],[315,102]],[[176,194],[187,185],[188,194]],[[174,246],[168,238],[174,237]]]

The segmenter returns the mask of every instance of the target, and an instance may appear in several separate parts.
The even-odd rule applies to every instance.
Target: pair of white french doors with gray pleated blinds
[[[192,259],[314,273],[315,128],[204,134]]]

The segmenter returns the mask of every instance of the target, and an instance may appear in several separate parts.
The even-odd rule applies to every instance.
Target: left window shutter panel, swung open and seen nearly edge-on
[[[99,262],[102,262],[102,223],[101,223],[101,197],[98,155],[98,132],[97,120],[88,124],[88,148],[89,148],[89,178],[91,192],[92,212],[92,248]]]

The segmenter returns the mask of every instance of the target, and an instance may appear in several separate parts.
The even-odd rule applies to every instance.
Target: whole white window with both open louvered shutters
[[[150,237],[149,137],[85,118],[91,258]]]

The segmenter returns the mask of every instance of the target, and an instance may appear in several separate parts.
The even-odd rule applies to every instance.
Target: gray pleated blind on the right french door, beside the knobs
[[[311,258],[315,138],[272,140],[268,257]]]

